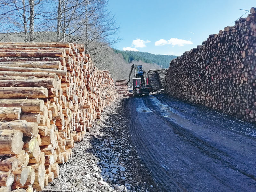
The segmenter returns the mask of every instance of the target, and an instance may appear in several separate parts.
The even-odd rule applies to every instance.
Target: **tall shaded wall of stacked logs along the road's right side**
[[[165,92],[256,122],[256,8],[170,63]]]

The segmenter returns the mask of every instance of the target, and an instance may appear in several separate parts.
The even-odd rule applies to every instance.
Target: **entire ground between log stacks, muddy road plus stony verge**
[[[108,107],[48,189],[256,191],[256,126],[164,94]]]

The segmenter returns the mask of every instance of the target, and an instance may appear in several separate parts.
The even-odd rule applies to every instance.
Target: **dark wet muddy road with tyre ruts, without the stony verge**
[[[256,191],[256,126],[162,94],[124,108],[161,191]]]

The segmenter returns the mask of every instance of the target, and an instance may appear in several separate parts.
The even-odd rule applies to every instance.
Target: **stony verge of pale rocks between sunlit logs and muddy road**
[[[95,121],[90,132],[87,132],[86,138],[75,144],[73,158],[60,165],[60,177],[45,189],[78,192],[159,191],[151,172],[132,144],[130,120],[123,115],[125,100],[122,98],[104,110],[101,119]],[[118,169],[113,178],[113,168],[109,167],[111,163],[115,163]],[[120,167],[125,171],[120,171]],[[106,168],[109,172],[102,174]],[[110,177],[105,177],[106,174],[110,174]]]

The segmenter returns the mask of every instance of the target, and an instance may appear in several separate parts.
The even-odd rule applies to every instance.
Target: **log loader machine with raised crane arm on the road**
[[[131,75],[134,70],[134,78]],[[126,84],[128,87],[132,87],[133,96],[137,95],[149,95],[150,92],[153,92],[153,88],[148,85],[148,78],[146,79],[146,71],[142,70],[142,65],[132,65],[129,81]]]

